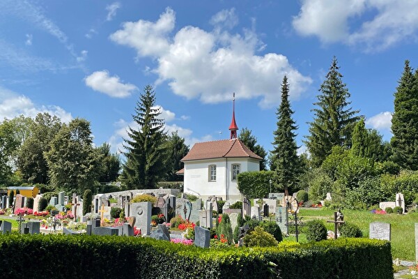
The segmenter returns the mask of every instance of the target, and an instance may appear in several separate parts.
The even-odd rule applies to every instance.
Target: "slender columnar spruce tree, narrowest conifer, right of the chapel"
[[[281,189],[288,188],[293,192],[297,188],[297,177],[300,173],[300,159],[297,157],[295,141],[297,129],[292,119],[293,110],[289,103],[289,85],[286,75],[281,84],[281,103],[277,109],[277,130],[274,131],[274,149],[272,165],[277,174],[277,183]]]

